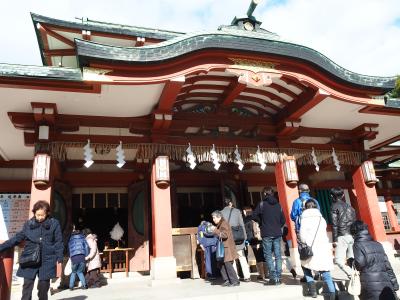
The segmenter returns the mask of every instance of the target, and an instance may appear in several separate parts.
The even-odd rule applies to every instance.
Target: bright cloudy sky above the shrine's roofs
[[[244,15],[250,0],[3,1],[0,63],[40,65],[29,12],[176,31],[212,30]],[[262,27],[320,51],[362,74],[400,74],[399,0],[264,0],[254,15]]]

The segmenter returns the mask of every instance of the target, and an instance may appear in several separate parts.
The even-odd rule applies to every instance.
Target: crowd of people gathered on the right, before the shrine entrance
[[[231,199],[225,199],[225,207],[212,213],[213,224],[203,221],[198,228],[198,241],[204,249],[206,278],[215,282],[220,270],[222,286],[240,285],[250,281],[246,253],[254,253],[258,279],[265,285],[282,284],[282,263],[294,278],[296,270],[290,264],[287,222],[276,193],[271,187],[264,188],[263,199],[253,210],[234,207]],[[312,254],[301,260],[305,283],[304,296],[317,297],[316,280],[321,278],[330,300],[338,298],[331,271],[336,264],[351,278],[353,270],[360,272],[361,294],[359,299],[397,299],[399,289],[396,276],[382,245],[373,241],[368,226],[356,220],[354,208],[345,200],[344,190],[332,188],[332,242],[327,233],[327,222],[320,212],[317,199],[311,197],[307,184],[299,185],[299,197],[293,201],[290,218],[295,225],[295,239],[299,249],[308,247]],[[238,234],[237,228],[242,228]],[[215,259],[218,240],[225,249],[223,261]],[[300,250],[299,250],[300,251]],[[333,254],[334,253],[334,254]],[[237,263],[241,273],[237,270]]]

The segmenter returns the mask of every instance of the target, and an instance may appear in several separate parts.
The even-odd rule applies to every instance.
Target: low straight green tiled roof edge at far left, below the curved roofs
[[[0,64],[0,77],[82,81],[80,69]]]

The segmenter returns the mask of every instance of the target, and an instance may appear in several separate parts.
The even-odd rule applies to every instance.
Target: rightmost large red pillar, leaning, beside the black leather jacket
[[[353,174],[353,185],[357,193],[357,206],[360,209],[361,219],[368,224],[369,232],[376,241],[386,241],[378,195],[374,185],[365,184],[361,166]]]

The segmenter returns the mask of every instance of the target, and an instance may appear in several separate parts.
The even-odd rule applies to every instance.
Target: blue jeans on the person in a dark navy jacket
[[[281,239],[282,237],[263,237],[263,249],[265,261],[268,265],[269,279],[280,280],[282,274],[282,256],[281,256]],[[275,266],[274,260],[272,259],[272,247],[275,255]]]

